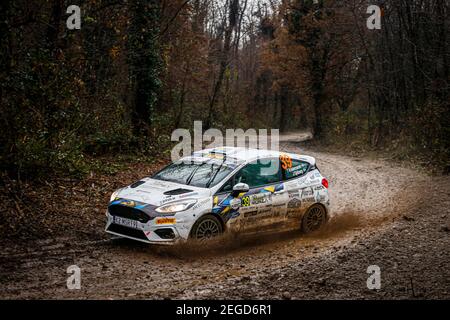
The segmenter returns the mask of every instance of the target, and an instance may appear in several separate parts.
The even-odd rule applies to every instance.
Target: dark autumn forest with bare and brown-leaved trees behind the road
[[[1,1],[1,170],[161,156],[197,120],[310,130],[448,173],[449,14],[447,0]]]

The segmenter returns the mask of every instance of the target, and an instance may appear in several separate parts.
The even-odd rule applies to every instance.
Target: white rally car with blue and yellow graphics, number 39
[[[327,221],[328,208],[328,181],[313,157],[222,147],[116,190],[106,232],[158,244],[285,222],[308,233]]]

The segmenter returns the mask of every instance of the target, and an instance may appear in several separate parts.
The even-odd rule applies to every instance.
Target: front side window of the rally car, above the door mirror
[[[234,177],[234,183],[246,183],[256,188],[281,180],[281,166],[278,158],[260,159],[247,164]]]

